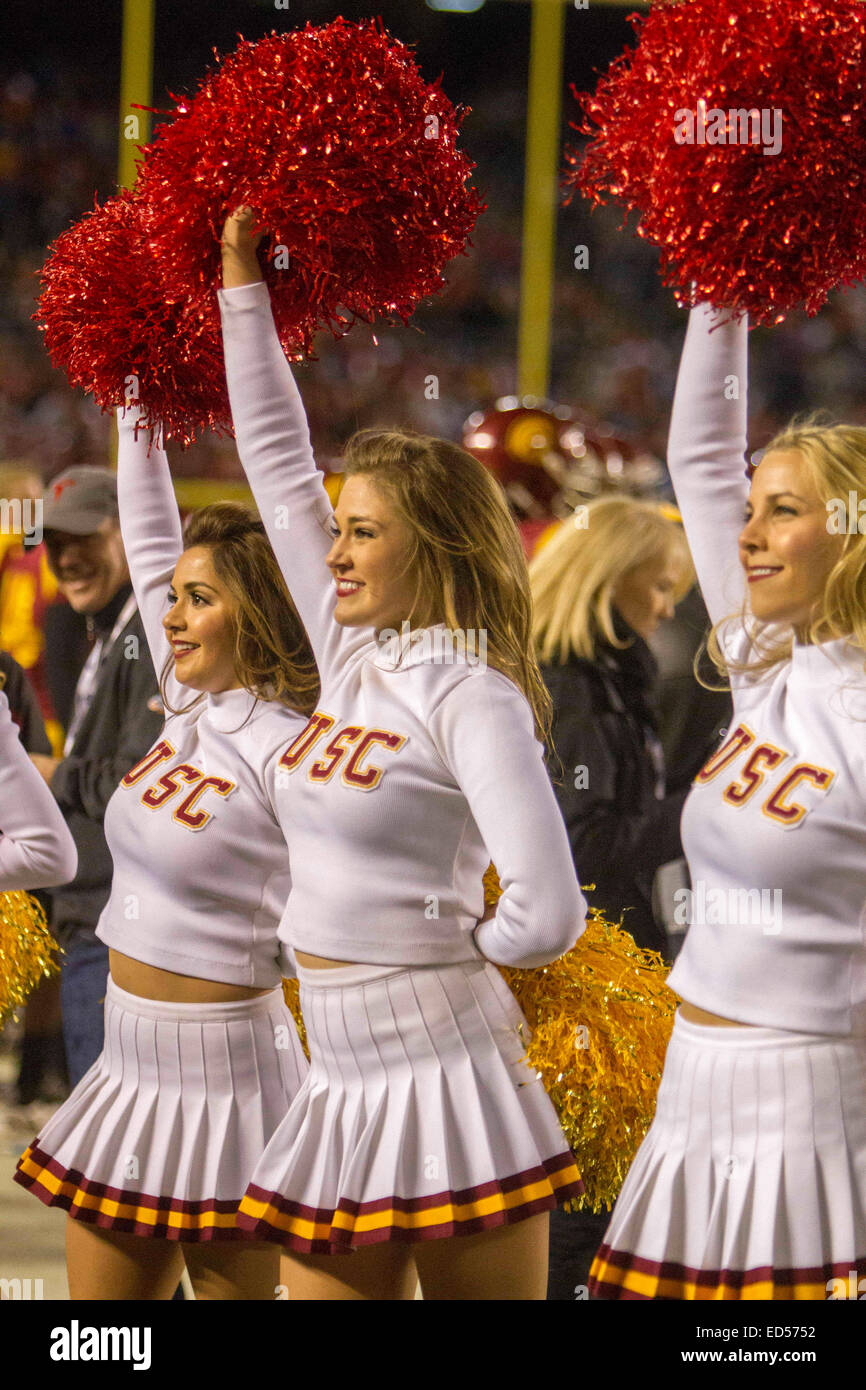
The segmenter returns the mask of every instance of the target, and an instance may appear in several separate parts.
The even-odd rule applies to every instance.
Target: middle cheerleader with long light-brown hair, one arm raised
[[[292,1298],[544,1298],[548,1212],[581,1184],[491,962],[555,959],[585,903],[520,539],[484,466],[423,436],[356,436],[332,513],[250,217],[224,232],[229,398],[322,694],[282,760],[310,1073],[239,1222],[285,1247]]]

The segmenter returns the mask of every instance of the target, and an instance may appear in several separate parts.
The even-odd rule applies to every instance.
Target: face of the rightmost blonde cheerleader
[[[809,627],[844,538],[827,531],[827,507],[796,449],[766,453],[752,477],[740,563],[752,613],[765,623]]]

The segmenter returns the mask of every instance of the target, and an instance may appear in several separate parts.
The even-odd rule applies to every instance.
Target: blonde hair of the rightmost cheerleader
[[[847,514],[848,495],[855,492],[859,496],[866,484],[866,427],[830,425],[823,421],[822,413],[794,418],[770,439],[762,453],[765,457],[783,449],[799,453],[806,477],[822,503],[842,499]],[[733,619],[740,620],[749,637],[749,660],[738,662],[723,655],[719,630]],[[796,634],[794,627],[781,635],[773,632],[778,626],[756,619],[749,612],[744,594],[740,612],[713,626],[706,649],[721,674],[735,671],[760,677],[791,657]],[[822,599],[805,631],[806,642],[813,644],[841,637],[866,651],[866,537],[859,530],[845,534],[840,557],[827,575]]]

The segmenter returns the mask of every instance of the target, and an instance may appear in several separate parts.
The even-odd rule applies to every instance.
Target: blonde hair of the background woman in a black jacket
[[[578,507],[530,563],[532,638],[544,663],[560,666],[571,655],[592,660],[601,641],[627,646],[613,627],[613,592],[631,570],[671,556],[681,577],[680,602],[694,584],[683,528],[653,502],[606,496]]]

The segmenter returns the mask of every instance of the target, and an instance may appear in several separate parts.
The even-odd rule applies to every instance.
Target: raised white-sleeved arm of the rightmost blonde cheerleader
[[[667,443],[667,467],[710,620],[742,605],[737,538],[745,478],[748,325],[723,322],[706,304],[691,310]]]

